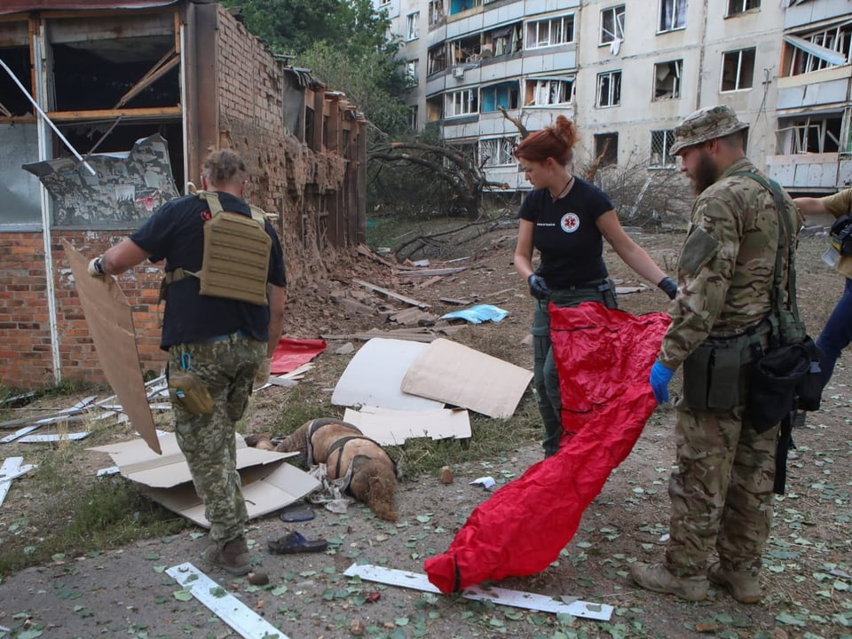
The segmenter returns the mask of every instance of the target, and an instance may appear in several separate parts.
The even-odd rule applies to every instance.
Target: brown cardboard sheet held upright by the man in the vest
[[[139,365],[130,303],[114,277],[91,277],[88,272],[90,257],[84,256],[67,240],[62,240],[62,246],[74,273],[77,295],[106,381],[118,395],[124,412],[139,435],[154,453],[160,453],[154,416],[148,406],[145,380]]]

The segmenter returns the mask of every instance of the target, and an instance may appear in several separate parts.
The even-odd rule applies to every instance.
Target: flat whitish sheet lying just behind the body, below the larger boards
[[[409,438],[461,439],[471,436],[468,412],[449,408],[396,411],[361,406],[360,410],[347,408],[343,421],[358,426],[362,433],[382,446],[401,445]]]

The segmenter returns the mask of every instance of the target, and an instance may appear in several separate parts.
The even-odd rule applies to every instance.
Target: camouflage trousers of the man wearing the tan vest
[[[266,343],[233,334],[207,342],[185,343],[169,350],[169,370],[182,358],[213,398],[211,414],[192,414],[172,402],[177,445],[186,457],[195,492],[204,503],[210,540],[222,545],[245,532],[248,513],[236,469],[236,423],[248,406]]]

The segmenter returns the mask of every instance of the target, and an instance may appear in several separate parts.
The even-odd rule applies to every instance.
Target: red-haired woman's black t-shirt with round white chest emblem
[[[529,193],[518,217],[535,225],[533,247],[541,254],[536,272],[559,290],[607,277],[604,236],[596,221],[613,209],[606,193],[580,177],[571,191],[553,201],[548,189]]]

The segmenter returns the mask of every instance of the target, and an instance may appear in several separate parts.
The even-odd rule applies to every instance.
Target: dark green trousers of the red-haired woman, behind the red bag
[[[545,456],[556,454],[562,439],[562,393],[559,390],[559,373],[553,359],[550,342],[550,314],[548,304],[556,306],[579,306],[583,302],[600,302],[607,308],[618,308],[615,301],[615,285],[611,289],[598,291],[595,288],[553,291],[549,300],[536,300],[533,312],[533,388],[539,406],[541,421],[544,422]]]

